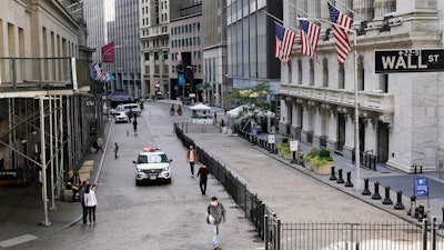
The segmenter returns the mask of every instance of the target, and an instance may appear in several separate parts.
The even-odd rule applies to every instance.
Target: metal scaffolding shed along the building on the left
[[[0,186],[40,181],[43,226],[68,171],[103,132],[103,92],[90,91],[103,88],[90,76],[75,58],[0,58]]]

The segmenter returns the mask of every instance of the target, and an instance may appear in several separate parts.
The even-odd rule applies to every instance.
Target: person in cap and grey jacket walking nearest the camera
[[[221,249],[219,247],[219,224],[225,221],[225,209],[223,204],[218,201],[216,197],[212,197],[206,208],[206,223],[209,223],[211,228],[214,250]]]

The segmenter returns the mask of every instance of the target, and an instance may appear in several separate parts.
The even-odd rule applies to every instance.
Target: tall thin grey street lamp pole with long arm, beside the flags
[[[340,27],[341,29],[346,30],[347,32],[353,33],[353,54],[354,54],[354,154],[355,154],[355,168],[356,168],[356,190],[361,191],[362,187],[362,179],[361,179],[361,162],[360,162],[360,110],[359,110],[359,102],[357,102],[357,51],[356,51],[356,30],[347,29],[342,27],[337,23],[331,22],[325,19],[312,19],[312,18],[297,18],[297,20],[314,20],[320,22],[325,22],[335,27]]]

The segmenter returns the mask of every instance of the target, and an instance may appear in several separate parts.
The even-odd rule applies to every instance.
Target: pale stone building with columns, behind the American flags
[[[281,68],[280,132],[352,158],[356,91],[361,152],[376,156],[379,162],[404,172],[411,172],[414,164],[423,166],[424,171],[442,171],[443,73],[375,73],[375,50],[415,52],[442,48],[444,2],[331,3],[353,19],[357,46],[353,46],[355,38],[351,33],[352,51],[340,64],[331,24],[319,20],[317,60],[302,54],[296,39],[290,67]],[[330,20],[326,0],[289,0],[283,10],[285,27],[297,27],[297,14]]]

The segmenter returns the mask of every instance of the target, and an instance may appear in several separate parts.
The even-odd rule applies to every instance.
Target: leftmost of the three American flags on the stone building
[[[278,22],[274,22],[274,28],[276,36],[274,57],[279,58],[284,66],[289,66],[290,54],[296,34]]]

